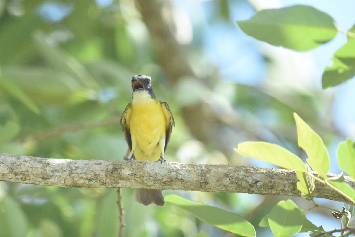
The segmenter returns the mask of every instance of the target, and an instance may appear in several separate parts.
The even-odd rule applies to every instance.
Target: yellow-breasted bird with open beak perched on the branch
[[[129,160],[163,162],[175,126],[170,107],[168,103],[157,99],[149,76],[133,76],[132,90],[132,100],[127,104],[120,122],[132,154]],[[162,190],[136,188],[135,199],[144,205],[165,205]]]

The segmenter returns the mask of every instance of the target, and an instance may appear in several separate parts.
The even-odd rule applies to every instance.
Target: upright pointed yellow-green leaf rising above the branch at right
[[[308,155],[307,163],[324,179],[330,169],[330,159],[321,137],[313,131],[296,113],[294,113],[298,145]]]

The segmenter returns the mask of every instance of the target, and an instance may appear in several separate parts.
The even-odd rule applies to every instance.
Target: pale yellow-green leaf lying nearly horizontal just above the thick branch
[[[304,162],[298,156],[276,144],[247,141],[238,144],[238,148],[234,150],[240,155],[263,160],[282,168],[306,171]]]

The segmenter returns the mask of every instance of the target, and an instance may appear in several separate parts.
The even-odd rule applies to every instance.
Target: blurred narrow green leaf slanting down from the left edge
[[[0,85],[4,87],[13,97],[29,108],[33,113],[39,114],[39,109],[36,104],[11,80],[6,79],[5,77],[0,77]]]

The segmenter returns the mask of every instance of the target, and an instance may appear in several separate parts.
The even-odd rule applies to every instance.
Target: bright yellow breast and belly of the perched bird
[[[156,161],[164,156],[165,128],[162,106],[157,99],[131,104],[131,152],[136,160]]]

